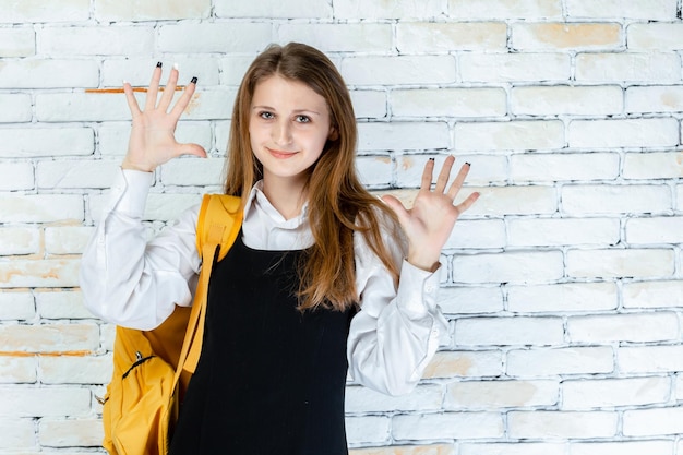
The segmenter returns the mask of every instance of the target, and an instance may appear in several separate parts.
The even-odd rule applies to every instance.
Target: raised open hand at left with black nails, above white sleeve
[[[179,144],[173,135],[178,120],[190,104],[196,88],[196,77],[192,79],[192,82],[185,86],[182,95],[172,107],[171,101],[178,84],[178,69],[173,67],[171,70],[164,94],[157,104],[160,79],[161,64],[159,63],[152,75],[144,110],[140,110],[133,87],[128,82],[123,83],[128,107],[133,117],[128,153],[121,165],[123,169],[152,172],[157,166],[180,155],[206,157],[206,151],[201,145]]]

